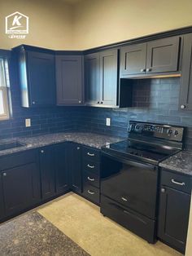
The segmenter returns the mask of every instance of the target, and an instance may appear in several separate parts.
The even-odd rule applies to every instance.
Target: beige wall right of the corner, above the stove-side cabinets
[[[85,0],[74,8],[75,49],[192,25],[191,0]]]

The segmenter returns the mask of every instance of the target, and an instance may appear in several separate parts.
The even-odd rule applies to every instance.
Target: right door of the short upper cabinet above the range
[[[177,71],[179,47],[179,37],[147,42],[146,73]]]

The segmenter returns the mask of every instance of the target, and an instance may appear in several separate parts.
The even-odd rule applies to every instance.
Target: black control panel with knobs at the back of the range
[[[181,142],[183,139],[184,127],[130,121],[128,130],[129,134],[145,135],[148,137]]]

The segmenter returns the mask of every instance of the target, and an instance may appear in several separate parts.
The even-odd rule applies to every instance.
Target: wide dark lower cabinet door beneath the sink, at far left
[[[41,198],[40,175],[36,163],[2,171],[6,216],[19,213]]]

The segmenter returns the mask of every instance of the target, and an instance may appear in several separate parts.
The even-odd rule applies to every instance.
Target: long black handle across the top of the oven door
[[[124,157],[117,157],[113,153],[109,154],[107,152],[102,152],[102,154],[104,157],[109,157],[112,160],[120,161],[126,165],[135,166],[135,167],[139,167],[139,168],[147,168],[149,170],[156,170],[156,168],[157,168],[157,166],[152,166],[151,164],[142,164],[140,162],[132,161],[132,160],[126,159]]]

